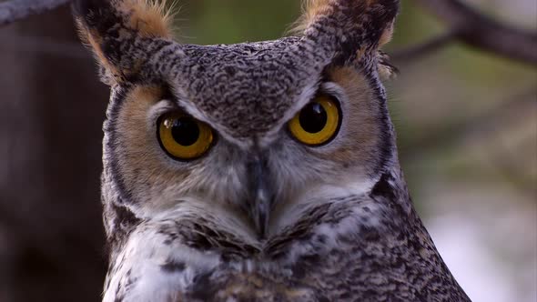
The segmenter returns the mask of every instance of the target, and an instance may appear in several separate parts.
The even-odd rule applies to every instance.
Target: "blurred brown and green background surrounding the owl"
[[[424,2],[402,0],[386,49],[400,68],[387,86],[410,192],[473,301],[537,301],[535,62],[457,42]],[[463,2],[537,33],[535,0]],[[275,39],[300,10],[299,0],[178,6],[178,37],[192,44]],[[0,301],[97,301],[107,87],[65,5],[0,26],[0,66]]]

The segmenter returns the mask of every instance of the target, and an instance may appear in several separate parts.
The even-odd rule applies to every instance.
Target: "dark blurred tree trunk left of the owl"
[[[107,91],[74,43],[66,6],[0,28],[1,301],[100,299]]]

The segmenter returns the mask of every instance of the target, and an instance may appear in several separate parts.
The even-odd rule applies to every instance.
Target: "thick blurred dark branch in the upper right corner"
[[[438,15],[467,45],[537,65],[537,33],[502,25],[460,0],[416,0]]]

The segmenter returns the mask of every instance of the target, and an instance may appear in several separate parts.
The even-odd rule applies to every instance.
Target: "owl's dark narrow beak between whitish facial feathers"
[[[253,220],[260,238],[264,238],[269,227],[269,214],[274,199],[269,180],[267,159],[258,154],[248,158],[248,215]]]

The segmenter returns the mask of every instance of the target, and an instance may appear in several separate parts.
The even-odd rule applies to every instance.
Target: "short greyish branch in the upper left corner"
[[[37,15],[65,5],[71,0],[12,0],[0,3],[0,26],[8,25],[29,15]]]

